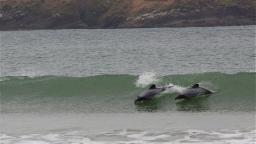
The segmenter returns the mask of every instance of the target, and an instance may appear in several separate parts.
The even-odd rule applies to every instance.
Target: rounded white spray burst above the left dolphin
[[[136,86],[144,88],[149,84],[157,83],[159,81],[159,77],[154,72],[145,72],[138,77]]]

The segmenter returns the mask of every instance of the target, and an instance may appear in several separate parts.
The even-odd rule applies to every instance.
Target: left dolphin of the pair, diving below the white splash
[[[165,91],[166,88],[168,87],[156,87],[155,84],[152,84],[149,87],[149,89],[147,89],[146,91],[142,92],[139,96],[137,96],[137,99],[135,100],[135,102],[152,99],[154,96]]]

